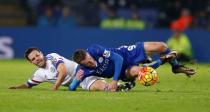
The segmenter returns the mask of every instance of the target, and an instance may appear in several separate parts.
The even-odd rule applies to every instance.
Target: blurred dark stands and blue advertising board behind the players
[[[24,50],[31,46],[45,54],[58,52],[71,57],[75,49],[93,43],[118,47],[138,41],[166,42],[172,35],[170,24],[185,8],[193,17],[184,32],[192,43],[194,58],[210,62],[209,0],[1,0],[0,8],[2,59],[23,58]],[[142,29],[102,28],[100,22],[108,17],[106,8],[124,19],[138,12],[146,25]],[[71,19],[63,25],[59,20],[65,9]]]

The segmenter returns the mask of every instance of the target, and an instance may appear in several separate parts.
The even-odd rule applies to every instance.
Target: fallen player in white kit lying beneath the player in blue
[[[42,82],[50,82],[53,83],[52,90],[57,90],[61,85],[68,87],[76,73],[81,74],[76,62],[56,53],[44,56],[38,48],[29,48],[25,52],[25,58],[38,68],[26,83],[10,89],[32,88]],[[80,79],[80,75],[77,77]],[[101,77],[90,76],[80,83],[80,87],[85,90],[107,90],[107,83]]]

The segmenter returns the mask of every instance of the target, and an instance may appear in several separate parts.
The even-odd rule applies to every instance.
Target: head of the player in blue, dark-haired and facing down
[[[96,67],[95,59],[85,50],[78,49],[74,52],[73,60],[80,65],[94,68]]]

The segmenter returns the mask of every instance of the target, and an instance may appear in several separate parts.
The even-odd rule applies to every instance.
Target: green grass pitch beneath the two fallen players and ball
[[[8,87],[31,77],[33,65],[25,60],[0,61],[0,112],[210,112],[210,64],[190,65],[197,74],[174,75],[169,65],[157,69],[159,81],[130,92],[70,92],[51,84],[26,90]]]

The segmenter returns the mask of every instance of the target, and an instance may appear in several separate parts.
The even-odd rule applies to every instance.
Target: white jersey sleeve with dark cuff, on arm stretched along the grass
[[[27,81],[29,87],[39,85],[40,83],[46,81],[46,78],[42,76],[41,71],[37,70],[33,76]]]

